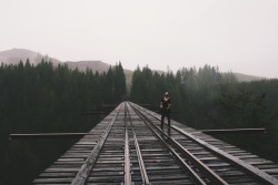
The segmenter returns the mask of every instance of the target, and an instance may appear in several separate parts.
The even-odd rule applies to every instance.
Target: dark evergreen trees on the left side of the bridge
[[[88,132],[100,115],[82,115],[126,94],[121,63],[107,72],[80,72],[50,61],[0,66],[0,175],[6,184],[30,184],[76,140],[9,141],[10,133]],[[17,176],[17,178],[14,178]]]

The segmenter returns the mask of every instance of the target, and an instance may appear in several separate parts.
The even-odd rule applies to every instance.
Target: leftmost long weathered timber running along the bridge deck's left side
[[[111,119],[107,129],[101,134],[101,136],[98,141],[98,144],[93,147],[93,150],[91,151],[91,153],[89,154],[89,156],[85,161],[85,164],[81,166],[81,168],[77,173],[76,177],[71,182],[71,185],[83,185],[86,183],[86,181],[91,172],[91,168],[93,167],[96,161],[98,160],[99,153],[100,153],[106,140],[107,140],[107,136],[110,133],[117,116],[119,115],[120,106],[121,105],[118,106],[117,113]]]

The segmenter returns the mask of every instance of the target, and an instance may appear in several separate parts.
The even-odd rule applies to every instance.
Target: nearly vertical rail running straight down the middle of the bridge
[[[131,185],[127,107],[125,103],[125,184]]]

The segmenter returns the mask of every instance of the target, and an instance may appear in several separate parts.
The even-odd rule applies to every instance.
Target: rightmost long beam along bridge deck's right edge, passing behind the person
[[[147,111],[145,111],[147,114],[156,117],[157,120],[160,120],[157,115],[152,115],[150,113],[148,113]],[[191,141],[197,142],[199,145],[206,147],[207,150],[209,150],[210,152],[215,153],[216,155],[218,155],[221,158],[225,158],[229,162],[231,162],[232,164],[241,167],[246,173],[250,174],[252,177],[255,177],[256,179],[258,179],[259,182],[264,183],[264,184],[278,184],[278,179],[275,178],[274,176],[267,174],[264,171],[260,171],[259,168],[246,163],[245,161],[235,157],[232,155],[230,155],[229,153],[219,150],[218,147],[200,140],[197,138],[195,135],[179,129],[178,126],[171,125],[171,129],[173,129],[175,131],[181,133],[182,135],[187,136],[188,138],[190,138]]]

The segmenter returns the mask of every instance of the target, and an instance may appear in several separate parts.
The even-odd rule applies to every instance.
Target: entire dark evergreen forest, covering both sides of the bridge
[[[127,89],[128,88],[128,89]],[[30,184],[77,140],[9,141],[10,133],[88,132],[105,115],[83,115],[106,104],[130,100],[159,110],[168,91],[171,117],[197,130],[266,127],[266,134],[217,137],[278,163],[278,80],[239,82],[216,66],[182,68],[159,73],[133,71],[126,85],[121,63],[107,72],[80,72],[67,65],[20,61],[0,66],[0,182]],[[129,92],[129,93],[127,93]],[[17,176],[17,178],[14,178]]]

